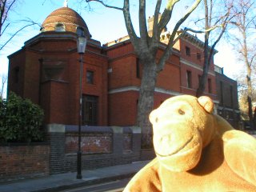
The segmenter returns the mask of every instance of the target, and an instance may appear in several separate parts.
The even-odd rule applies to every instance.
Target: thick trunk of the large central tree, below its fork
[[[143,62],[142,84],[138,99],[137,124],[142,128],[142,148],[152,147],[152,125],[149,120],[154,107],[154,86],[157,78],[155,62]]]

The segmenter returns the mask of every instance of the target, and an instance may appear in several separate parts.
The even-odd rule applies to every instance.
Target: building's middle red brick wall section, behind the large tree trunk
[[[127,51],[125,54],[124,51]],[[141,78],[137,78],[137,57],[129,54],[130,44],[117,46],[107,54],[111,57],[109,63],[109,125],[134,126],[137,117],[138,90]],[[158,52],[158,57],[162,51]],[[142,68],[140,69],[142,70]],[[164,70],[158,74],[156,87],[162,90],[180,92],[180,63],[177,54],[170,56]],[[121,89],[121,92],[118,92]],[[127,90],[126,90],[127,89]],[[155,92],[154,106],[159,106],[162,101],[169,98],[170,94]]]

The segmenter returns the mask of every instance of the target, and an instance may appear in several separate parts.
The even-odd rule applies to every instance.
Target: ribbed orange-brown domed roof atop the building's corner
[[[69,7],[61,7],[49,14],[42,23],[41,31],[70,31],[76,33],[78,26],[89,33],[86,22],[76,11]]]

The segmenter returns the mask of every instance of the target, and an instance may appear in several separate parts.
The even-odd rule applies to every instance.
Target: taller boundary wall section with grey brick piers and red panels
[[[50,124],[50,174],[77,171],[78,126]],[[135,126],[82,126],[82,170],[141,159],[141,129]],[[87,150],[87,151],[86,151]]]

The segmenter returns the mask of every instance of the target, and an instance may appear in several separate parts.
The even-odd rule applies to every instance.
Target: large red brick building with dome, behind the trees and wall
[[[149,26],[152,21],[149,18]],[[68,7],[54,10],[43,22],[41,33],[9,56],[8,91],[42,106],[46,124],[78,125],[77,26],[88,30],[86,22],[74,10]],[[166,30],[162,32],[158,55],[162,54],[168,35]],[[90,38],[83,57],[82,124],[134,126],[142,66],[129,37],[118,38],[103,46]],[[203,42],[191,34],[183,35],[175,44],[165,69],[158,75],[154,106],[171,96],[194,95],[202,65]],[[214,72],[214,61],[211,61],[205,94],[213,98],[216,105],[220,102],[218,77]],[[229,81],[222,78],[222,81],[226,80]],[[237,102],[237,97],[233,99]]]

